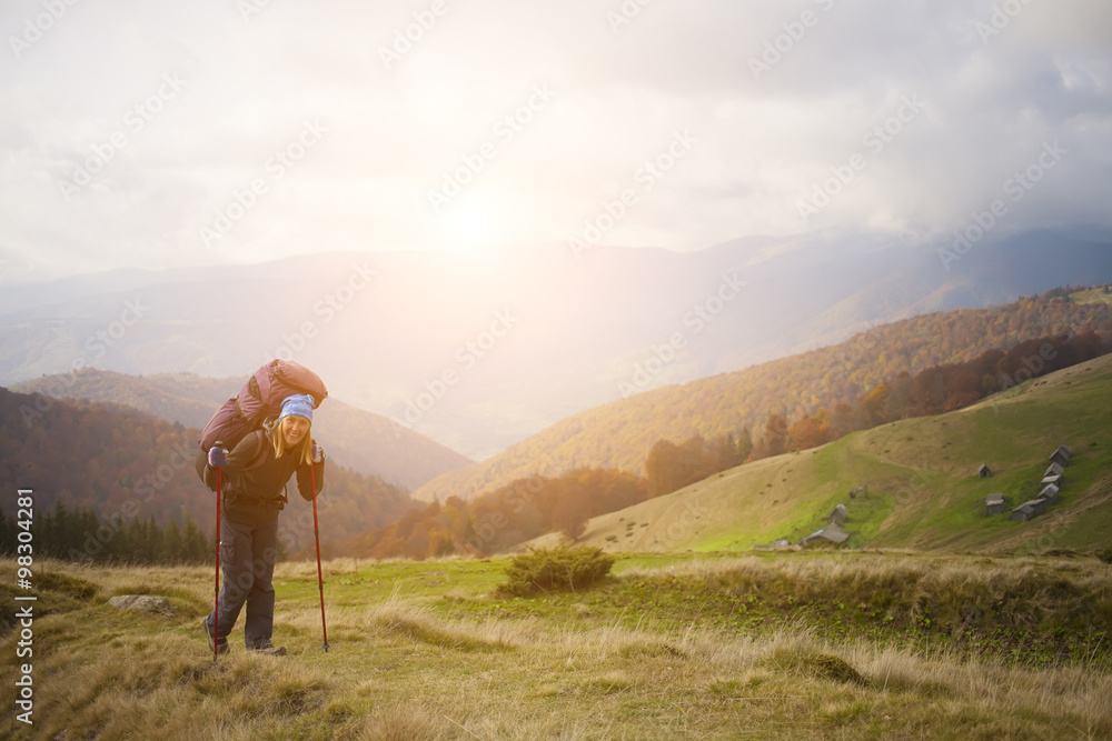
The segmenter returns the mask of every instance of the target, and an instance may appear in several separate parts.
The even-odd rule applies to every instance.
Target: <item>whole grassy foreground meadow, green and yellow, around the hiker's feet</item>
[[[1112,602],[1108,567],[1093,559],[637,555],[586,593],[499,599],[492,592],[505,563],[326,563],[328,653],[320,650],[314,564],[281,564],[275,638],[289,654],[248,655],[240,623],[230,655],[214,663],[199,630],[210,570],[39,562],[36,725],[16,722],[16,662],[3,662],[0,701],[9,711],[0,737],[133,739],[155,729],[167,740],[1112,733],[1100,632]],[[0,561],[8,605],[13,583],[14,563]],[[75,589],[88,584],[95,594]],[[125,593],[166,595],[178,615],[107,604]],[[1014,610],[1000,607],[1013,599]],[[1013,628],[984,633],[979,659],[955,653],[947,602],[950,613],[961,611],[954,619],[965,621],[969,604],[980,611],[975,622]],[[1056,639],[1036,639],[1032,651],[1015,632],[1016,621],[1035,613],[1036,629],[1052,627],[1046,615],[1064,617],[1066,637],[1080,637],[1064,661]],[[0,651],[14,655],[18,640],[0,622]],[[1041,660],[1032,662],[1035,654]]]

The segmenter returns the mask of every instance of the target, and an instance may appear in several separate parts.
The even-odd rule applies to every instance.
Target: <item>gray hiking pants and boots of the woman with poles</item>
[[[247,525],[220,518],[220,635],[227,638],[247,604],[244,643],[262,647],[274,634],[275,561],[278,559],[278,523]],[[212,632],[214,615],[207,619]]]

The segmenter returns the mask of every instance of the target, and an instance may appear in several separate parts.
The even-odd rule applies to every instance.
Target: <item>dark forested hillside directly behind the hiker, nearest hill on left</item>
[[[214,495],[197,477],[196,428],[133,409],[70,402],[0,388],[0,487],[34,488],[40,512],[63,502],[121,518],[185,525],[215,524]],[[327,450],[327,449],[326,449]],[[404,489],[377,477],[330,465],[319,499],[321,542],[340,542],[394,522],[411,507]],[[10,501],[2,503],[9,514]],[[288,551],[312,542],[309,504],[290,490],[279,520]]]

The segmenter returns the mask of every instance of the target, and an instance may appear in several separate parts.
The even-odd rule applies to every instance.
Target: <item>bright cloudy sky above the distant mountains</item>
[[[1112,227],[1108,0],[6,0],[0,34],[0,284]]]

